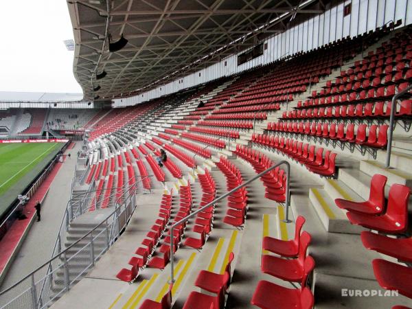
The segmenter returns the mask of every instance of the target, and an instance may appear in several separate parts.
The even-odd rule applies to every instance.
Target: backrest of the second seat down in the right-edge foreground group
[[[406,185],[395,183],[389,189],[387,216],[394,220],[398,231],[408,227],[408,201],[411,190]]]

